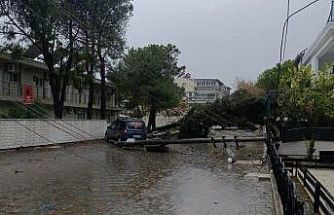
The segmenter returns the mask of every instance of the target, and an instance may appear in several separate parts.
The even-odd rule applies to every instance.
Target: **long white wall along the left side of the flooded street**
[[[0,150],[104,138],[103,120],[0,120]]]

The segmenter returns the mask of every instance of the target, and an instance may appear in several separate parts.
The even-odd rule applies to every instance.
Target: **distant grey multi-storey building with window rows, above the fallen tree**
[[[213,103],[217,99],[230,95],[231,88],[219,79],[195,79],[195,103]]]

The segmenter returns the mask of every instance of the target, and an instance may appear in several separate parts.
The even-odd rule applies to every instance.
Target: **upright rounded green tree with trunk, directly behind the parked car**
[[[149,129],[155,129],[156,113],[179,104],[182,91],[174,83],[181,68],[180,51],[173,45],[131,48],[111,80],[129,100],[130,107],[148,109]],[[145,110],[144,110],[145,111]]]

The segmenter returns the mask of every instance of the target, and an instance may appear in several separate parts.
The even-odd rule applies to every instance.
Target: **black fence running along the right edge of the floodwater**
[[[285,164],[282,161],[282,158],[280,158],[275,145],[267,142],[267,148],[274,176],[276,178],[278,192],[281,197],[284,214],[304,214],[304,202],[297,195],[295,182],[285,168]]]

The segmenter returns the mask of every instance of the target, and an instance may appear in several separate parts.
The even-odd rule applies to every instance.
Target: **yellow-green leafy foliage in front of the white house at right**
[[[264,71],[257,86],[278,90],[278,110],[281,118],[298,123],[307,120],[324,124],[334,117],[334,76],[332,67],[314,74],[310,66],[296,67],[292,61]]]

